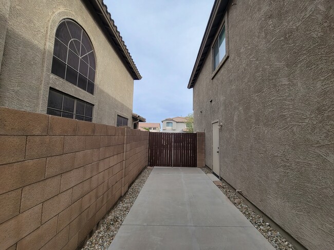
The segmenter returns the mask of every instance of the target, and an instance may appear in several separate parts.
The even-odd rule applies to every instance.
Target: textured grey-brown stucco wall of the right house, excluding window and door
[[[308,249],[330,249],[334,2],[237,1],[226,18],[229,58],[212,79],[209,53],[193,90],[206,164],[219,119],[221,177]]]

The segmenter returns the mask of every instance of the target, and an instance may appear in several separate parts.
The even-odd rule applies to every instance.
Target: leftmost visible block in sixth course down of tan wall
[[[57,234],[57,216],[45,222],[31,234],[17,242],[16,250],[40,249]]]

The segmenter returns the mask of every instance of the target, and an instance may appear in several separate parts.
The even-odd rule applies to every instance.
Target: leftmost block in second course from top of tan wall
[[[24,160],[26,136],[0,135],[0,141],[0,165]]]

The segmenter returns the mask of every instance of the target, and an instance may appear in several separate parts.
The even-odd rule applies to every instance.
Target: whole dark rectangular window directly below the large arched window
[[[49,90],[47,114],[91,121],[93,105],[62,92]]]

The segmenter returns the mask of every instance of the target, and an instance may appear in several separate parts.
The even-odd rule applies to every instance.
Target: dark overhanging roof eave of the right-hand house
[[[211,51],[211,44],[219,28],[221,19],[224,17],[228,3],[229,3],[228,0],[215,0],[213,4],[207,28],[204,32],[202,42],[198,50],[195,65],[191,73],[191,77],[189,79],[188,89],[194,87],[197,76],[199,75],[199,72],[203,66],[205,58],[207,57],[208,52]]]

